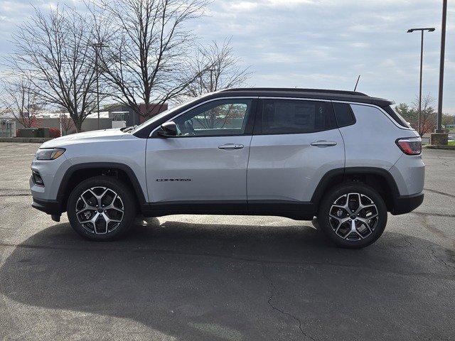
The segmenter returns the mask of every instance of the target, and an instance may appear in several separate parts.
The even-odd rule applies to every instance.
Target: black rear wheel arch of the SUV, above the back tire
[[[327,190],[346,182],[365,183],[374,188],[384,199],[387,210],[394,211],[396,199],[400,195],[397,183],[389,171],[377,167],[348,167],[328,171],[317,185],[311,202],[318,207]]]

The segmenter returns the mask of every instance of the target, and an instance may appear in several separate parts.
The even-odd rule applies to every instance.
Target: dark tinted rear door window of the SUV
[[[336,128],[330,102],[264,99],[262,134],[304,134]]]

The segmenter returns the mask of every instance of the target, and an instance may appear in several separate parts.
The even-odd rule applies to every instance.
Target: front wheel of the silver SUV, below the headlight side
[[[99,201],[95,195],[92,195],[92,193],[100,195],[100,193],[103,193],[103,188],[107,189],[107,192],[105,192],[106,194],[102,196],[102,199],[100,199],[104,200],[102,204],[106,205],[106,207],[111,206],[109,205],[109,199],[112,198],[111,204],[114,205],[114,207],[103,212],[100,212],[99,210],[86,210],[88,211],[86,214],[89,218],[97,215],[98,218],[96,221],[99,229],[94,227],[90,222],[82,224],[80,221],[85,222],[85,217],[82,215],[83,212],[80,213],[79,217],[77,217],[77,210],[81,210],[81,207],[98,207],[99,205],[97,202]],[[90,189],[93,189],[92,192],[87,192]],[[84,204],[84,200],[80,199],[82,193],[85,193],[84,200],[90,204],[89,206]],[[115,194],[117,194],[117,197],[115,197]],[[114,197],[116,199],[114,199]],[[136,200],[134,200],[132,191],[129,190],[124,183],[115,178],[110,178],[109,176],[96,176],[82,181],[74,188],[68,197],[66,212],[68,220],[70,220],[71,227],[73,227],[75,232],[80,234],[82,237],[100,242],[110,241],[124,236],[124,234],[126,234],[132,227],[137,213],[135,202]],[[81,217],[83,219],[81,219]],[[120,222],[107,223],[107,220],[105,220],[104,217],[119,220]],[[97,233],[92,231],[92,228]]]

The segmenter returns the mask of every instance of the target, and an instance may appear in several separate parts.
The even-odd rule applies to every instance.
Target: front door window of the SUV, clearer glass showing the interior
[[[208,102],[173,119],[177,136],[242,135],[252,99],[220,99]]]

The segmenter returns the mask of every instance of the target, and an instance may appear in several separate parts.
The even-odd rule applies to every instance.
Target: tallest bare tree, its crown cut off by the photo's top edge
[[[92,7],[98,26],[103,78],[109,94],[142,117],[151,104],[180,97],[199,75],[189,74],[195,37],[185,24],[198,18],[205,0],[101,0]],[[110,26],[106,26],[107,23]],[[144,111],[141,111],[144,103]]]

